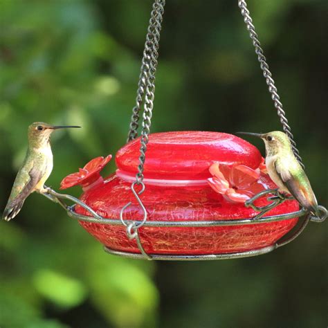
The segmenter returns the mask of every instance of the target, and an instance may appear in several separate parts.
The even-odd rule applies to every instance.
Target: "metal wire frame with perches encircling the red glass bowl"
[[[60,194],[52,190],[51,188],[47,188],[47,193],[44,194],[45,197],[51,199],[55,203],[60,203],[60,206],[67,211],[69,217],[73,219],[77,219],[78,221],[86,221],[94,224],[109,224],[112,226],[122,225],[121,219],[107,219],[100,215],[98,215],[92,208],[87,206],[85,203],[80,201],[69,194]],[[253,204],[255,200],[260,197],[268,196],[268,200],[271,201],[267,206],[257,207]],[[68,206],[63,199],[72,201],[73,206]],[[212,220],[212,221],[138,221],[137,219],[127,220],[125,221],[125,225],[127,226],[127,236],[129,239],[136,239],[136,244],[140,253],[129,253],[122,252],[120,250],[113,250],[104,246],[104,250],[107,253],[111,253],[113,255],[120,255],[124,257],[134,258],[134,259],[155,259],[155,260],[209,260],[209,259],[234,259],[239,257],[250,257],[255,255],[262,255],[268,252],[271,252],[275,248],[279,248],[289,242],[292,242],[296,237],[298,237],[304,228],[307,226],[309,221],[314,222],[322,222],[327,218],[327,210],[323,206],[319,206],[318,209],[322,212],[321,217],[313,217],[309,211],[302,208],[296,212],[289,212],[282,215],[273,215],[268,217],[263,217],[263,215],[271,210],[275,206],[279,205],[283,201],[285,201],[286,197],[283,197],[277,190],[264,190],[259,194],[256,194],[252,199],[250,199],[246,206],[251,207],[257,211],[260,211],[259,215],[255,217],[249,217],[245,219],[236,219],[236,220]],[[80,215],[75,212],[75,204],[82,206],[85,210],[87,210],[91,216]],[[135,226],[144,226],[144,227],[157,227],[157,228],[170,228],[170,227],[185,227],[185,228],[205,228],[205,227],[217,227],[217,226],[242,226],[242,225],[251,225],[251,224],[263,224],[263,223],[271,223],[282,221],[286,219],[293,219],[296,217],[303,217],[302,221],[298,226],[296,226],[293,231],[287,234],[287,237],[282,237],[279,241],[271,246],[266,246],[264,248],[259,248],[256,250],[248,250],[246,252],[238,252],[238,253],[221,253],[221,254],[210,254],[210,255],[165,255],[165,254],[147,254],[145,249],[143,248],[143,243],[141,242],[140,235],[138,233],[138,228],[134,228]]]

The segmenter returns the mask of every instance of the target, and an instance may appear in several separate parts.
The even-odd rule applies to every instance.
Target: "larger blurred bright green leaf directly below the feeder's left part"
[[[154,320],[158,306],[156,287],[133,262],[109,255],[102,258],[89,271],[93,302],[116,327],[145,327],[150,318]]]

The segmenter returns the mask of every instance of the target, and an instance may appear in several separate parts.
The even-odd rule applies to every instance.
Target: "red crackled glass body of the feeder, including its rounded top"
[[[84,189],[82,194],[81,201],[101,217],[109,219],[110,223],[84,221],[90,213],[79,205],[75,206],[76,214],[83,219],[80,224],[110,253],[140,255],[136,239],[127,237],[126,227],[119,219],[120,211],[131,201],[131,206],[123,213],[125,223],[143,220],[143,210],[130,188],[136,179],[139,147],[139,139],[122,147],[116,154],[116,174],[108,179],[98,179],[97,184]],[[244,201],[235,202],[211,188],[208,179],[214,178],[209,170],[213,163],[231,167],[231,172],[235,165],[259,172],[262,156],[256,147],[230,134],[180,131],[149,136],[143,180],[146,188],[140,195],[147,209],[147,222],[138,228],[145,253],[152,257],[164,255],[172,258],[255,255],[272,250],[275,242],[295,226],[298,219],[293,217],[269,223],[262,223],[261,219],[252,221],[258,212],[246,208]],[[236,192],[238,181],[242,183],[245,176],[247,174],[241,172],[233,178]],[[260,188],[255,188],[253,194],[276,188],[263,172],[258,174],[257,185]],[[250,185],[250,196],[252,188]],[[267,204],[264,198],[255,203],[256,206]],[[298,208],[297,201],[284,201],[266,216],[289,215]],[[248,224],[249,221],[255,224]],[[238,224],[234,225],[234,222]],[[216,226],[216,223],[221,224]]]

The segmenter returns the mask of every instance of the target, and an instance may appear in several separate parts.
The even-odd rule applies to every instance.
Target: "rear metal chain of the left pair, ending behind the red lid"
[[[149,78],[152,79],[152,76],[149,75],[149,69],[152,68],[152,75],[154,75],[157,66],[157,57],[158,57],[158,47],[159,47],[159,32],[161,31],[161,23],[163,21],[165,0],[156,0],[153,5],[153,10],[151,12],[151,17],[149,20],[149,27],[147,30],[145,50],[143,51],[143,60],[140,68],[140,75],[138,81],[138,90],[136,95],[136,105],[132,109],[131,123],[129,125],[129,134],[127,137],[127,142],[134,140],[138,135],[138,121],[139,121],[139,112],[143,104],[143,97],[145,95],[145,89],[149,82]],[[154,81],[153,81],[154,83]]]

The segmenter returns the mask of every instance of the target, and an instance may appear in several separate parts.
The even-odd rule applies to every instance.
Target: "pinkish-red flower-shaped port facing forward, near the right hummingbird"
[[[210,166],[212,178],[208,183],[213,190],[233,203],[244,203],[258,192],[265,189],[259,183],[260,170],[246,165],[227,165],[214,163]]]

